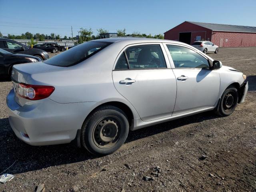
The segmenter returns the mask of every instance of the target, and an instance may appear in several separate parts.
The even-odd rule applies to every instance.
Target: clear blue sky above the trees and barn
[[[256,26],[256,0],[0,0],[0,32],[78,35],[80,28],[163,34],[184,21]]]

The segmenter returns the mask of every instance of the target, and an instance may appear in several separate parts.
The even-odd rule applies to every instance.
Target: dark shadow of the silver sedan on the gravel
[[[208,119],[218,118],[212,112],[204,112],[194,116],[173,120],[154,126],[131,131],[126,143],[139,140],[154,134],[172,130],[186,124],[202,122]],[[8,122],[8,118],[0,119],[0,172],[8,169],[8,173],[18,174],[33,170],[40,170],[50,166],[58,166],[98,158],[83,148],[77,148],[73,144],[61,144],[52,146],[30,146],[19,140]]]

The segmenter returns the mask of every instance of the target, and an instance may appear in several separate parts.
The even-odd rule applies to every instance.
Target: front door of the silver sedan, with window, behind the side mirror
[[[208,58],[186,46],[166,44],[177,81],[173,116],[213,107],[220,90],[218,70],[211,70]]]

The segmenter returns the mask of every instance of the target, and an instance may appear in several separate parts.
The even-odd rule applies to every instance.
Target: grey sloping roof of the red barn
[[[192,21],[187,21],[187,22],[204,27],[204,28],[208,28],[213,31],[256,33],[256,27],[250,27],[250,26],[201,23],[201,22],[192,22]]]

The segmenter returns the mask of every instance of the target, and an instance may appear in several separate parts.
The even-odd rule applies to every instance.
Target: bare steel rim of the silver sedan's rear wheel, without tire
[[[115,117],[107,117],[94,127],[93,140],[94,143],[100,148],[110,148],[118,142],[119,133],[118,126],[119,120]]]

